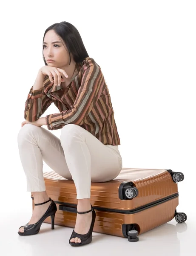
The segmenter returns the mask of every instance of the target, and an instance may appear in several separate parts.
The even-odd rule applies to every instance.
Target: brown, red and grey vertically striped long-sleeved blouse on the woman
[[[45,116],[48,130],[67,124],[80,125],[104,145],[120,145],[111,97],[101,68],[93,58],[77,63],[70,84],[64,88],[54,82],[41,89],[31,87],[24,117],[34,122],[54,102],[60,113]]]

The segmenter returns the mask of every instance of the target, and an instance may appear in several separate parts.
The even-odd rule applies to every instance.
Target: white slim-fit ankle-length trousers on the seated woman
[[[91,182],[112,180],[122,169],[118,146],[104,145],[79,125],[65,125],[59,139],[48,129],[26,124],[17,139],[29,192],[45,191],[43,161],[74,180],[77,199],[90,198]]]

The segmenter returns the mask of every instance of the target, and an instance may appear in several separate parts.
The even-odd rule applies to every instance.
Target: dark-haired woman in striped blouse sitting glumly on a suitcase
[[[27,178],[27,191],[34,197],[28,224],[18,234],[37,234],[57,207],[45,191],[43,160],[55,172],[74,180],[77,219],[69,243],[92,241],[95,211],[90,203],[91,182],[114,179],[122,169],[120,139],[108,87],[102,71],[89,58],[77,29],[68,22],[55,23],[43,37],[43,60],[25,104],[18,134],[20,160]],[[54,102],[60,113],[40,117]],[[61,129],[60,139],[48,130]]]

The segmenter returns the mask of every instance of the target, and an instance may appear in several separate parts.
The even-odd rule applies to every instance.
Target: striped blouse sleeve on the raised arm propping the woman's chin
[[[29,122],[36,121],[46,111],[51,103],[52,100],[44,93],[44,87],[38,90],[33,90],[32,86],[25,103],[25,119]]]

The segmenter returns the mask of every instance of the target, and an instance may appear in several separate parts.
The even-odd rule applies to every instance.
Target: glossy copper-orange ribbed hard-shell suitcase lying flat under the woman
[[[139,234],[171,221],[186,221],[184,212],[177,212],[177,183],[182,172],[170,169],[127,169],[111,181],[91,183],[91,204],[96,211],[94,232],[138,241]],[[57,204],[55,224],[73,227],[76,222],[76,188],[56,172],[44,173],[48,197]],[[32,195],[31,198],[33,199]],[[34,208],[34,201],[32,202]],[[51,223],[48,217],[44,221]]]

